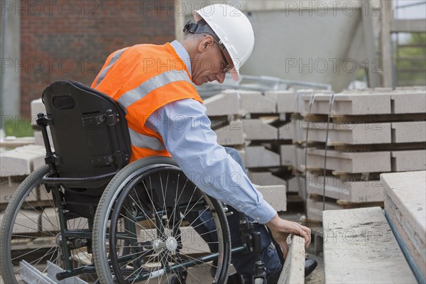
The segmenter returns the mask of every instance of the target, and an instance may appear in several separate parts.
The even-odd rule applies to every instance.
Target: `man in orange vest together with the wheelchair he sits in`
[[[92,88],[45,89],[46,165],[0,215],[5,283],[201,283],[192,268],[205,267],[214,283],[277,283],[289,234],[309,246],[310,229],[278,217],[219,146],[193,86],[239,80],[249,19],[224,4],[194,17],[180,42],[109,55]],[[305,276],[315,267],[307,259]]]

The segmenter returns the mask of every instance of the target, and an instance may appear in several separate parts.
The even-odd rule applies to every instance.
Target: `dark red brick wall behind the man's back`
[[[107,56],[175,38],[173,1],[21,1],[21,114],[55,80],[91,84]]]

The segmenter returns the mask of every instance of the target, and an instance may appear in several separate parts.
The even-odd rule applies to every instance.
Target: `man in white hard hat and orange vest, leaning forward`
[[[254,46],[251,23],[244,13],[226,5],[205,7],[195,11],[194,17],[196,22],[185,25],[180,42],[134,45],[109,55],[92,87],[126,108],[131,160],[171,155],[195,185],[229,205],[235,212],[228,217],[233,246],[241,244],[238,212],[266,224],[284,256],[289,233],[304,237],[308,246],[310,229],[280,219],[250,182],[242,163],[236,161],[238,153],[217,144],[202,99],[192,86],[214,80],[222,83],[226,72],[239,80],[239,68]],[[185,127],[176,127],[177,123]],[[223,173],[226,182],[221,183]],[[211,178],[209,182],[202,180],[206,177]],[[278,280],[278,253],[269,247],[271,238],[265,227],[257,229],[261,232],[266,273]],[[244,283],[251,283],[254,253],[235,253],[232,263]]]

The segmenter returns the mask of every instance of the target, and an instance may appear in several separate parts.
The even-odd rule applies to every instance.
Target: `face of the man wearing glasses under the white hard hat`
[[[232,62],[226,50],[222,49],[211,36],[206,36],[198,46],[198,52],[193,62],[192,82],[197,86],[213,81],[222,84],[225,73],[231,67],[229,62]]]

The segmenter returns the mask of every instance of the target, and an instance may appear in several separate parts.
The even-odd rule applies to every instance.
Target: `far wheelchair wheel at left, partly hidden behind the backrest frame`
[[[47,173],[49,168],[45,165],[28,175],[1,213],[0,272],[4,283],[51,283],[48,278],[56,280],[56,273],[66,269],[58,207],[51,198],[52,192],[48,192],[43,183]],[[67,227],[87,228],[87,219],[70,219]],[[91,262],[85,247],[74,246],[67,252],[69,263],[81,266],[78,263]],[[67,279],[67,283],[77,281],[76,278]]]

